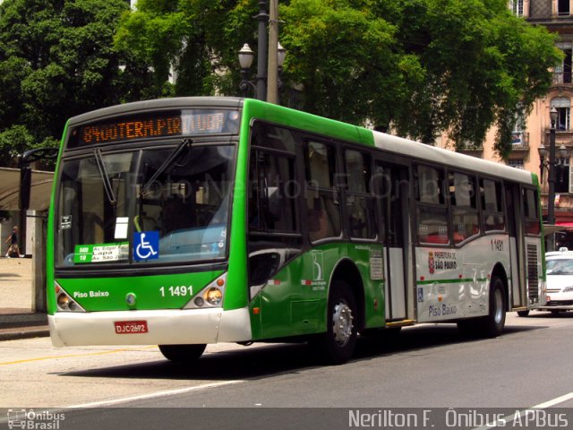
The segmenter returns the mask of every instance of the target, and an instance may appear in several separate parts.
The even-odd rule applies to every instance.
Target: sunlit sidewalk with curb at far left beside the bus
[[[32,312],[31,258],[0,257],[0,340],[48,336],[47,314]]]

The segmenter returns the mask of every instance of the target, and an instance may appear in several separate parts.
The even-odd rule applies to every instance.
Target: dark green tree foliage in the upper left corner
[[[23,150],[53,145],[68,117],[122,101],[132,78],[118,67],[113,38],[128,9],[124,0],[0,4],[3,165]]]

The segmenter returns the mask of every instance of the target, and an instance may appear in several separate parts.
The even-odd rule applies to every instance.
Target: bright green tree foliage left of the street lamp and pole
[[[156,93],[235,94],[238,44],[256,43],[256,12],[251,0],[140,0],[124,15],[115,46],[148,64]]]

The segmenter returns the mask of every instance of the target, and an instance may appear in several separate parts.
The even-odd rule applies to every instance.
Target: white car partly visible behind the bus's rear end
[[[562,249],[545,254],[547,303],[541,311],[557,314],[573,311],[573,251]]]

